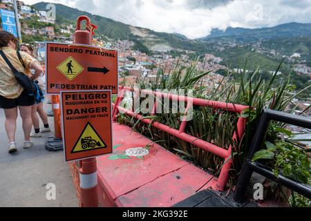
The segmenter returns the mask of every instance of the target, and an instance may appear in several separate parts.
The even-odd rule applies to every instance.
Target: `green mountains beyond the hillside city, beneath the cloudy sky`
[[[37,10],[46,10],[48,3],[36,3]],[[275,70],[284,55],[301,53],[302,59],[311,66],[311,23],[285,23],[272,28],[227,28],[212,30],[207,37],[188,39],[178,33],[155,32],[99,15],[55,4],[57,24],[71,23],[75,26],[77,17],[90,17],[98,29],[97,35],[111,39],[130,39],[143,52],[191,50],[196,55],[212,53],[223,58],[224,65],[238,66],[249,57],[250,68],[261,66],[263,70]]]

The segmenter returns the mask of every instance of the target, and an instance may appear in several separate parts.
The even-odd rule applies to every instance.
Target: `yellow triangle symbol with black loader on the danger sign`
[[[106,148],[107,145],[100,135],[95,131],[92,124],[88,122],[79,136],[71,153],[79,153],[83,151],[92,151],[100,148]]]

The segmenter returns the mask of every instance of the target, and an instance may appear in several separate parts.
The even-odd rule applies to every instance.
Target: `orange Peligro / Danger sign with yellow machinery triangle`
[[[62,91],[66,162],[112,153],[111,91]]]

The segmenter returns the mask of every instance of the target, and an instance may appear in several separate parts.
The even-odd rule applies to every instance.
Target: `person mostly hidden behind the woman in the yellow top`
[[[21,51],[26,52],[28,55],[33,56],[34,48],[30,44],[21,44]],[[34,73],[33,73],[34,74]],[[45,77],[44,73],[36,79],[38,81],[39,88],[44,92],[45,91]],[[44,128],[40,129],[39,117],[38,114],[44,123]],[[35,133],[30,133],[30,137],[41,137],[41,133],[50,132],[50,126],[48,125],[48,115],[44,111],[44,100],[41,100],[39,103],[36,103],[32,106],[32,124],[35,129]]]

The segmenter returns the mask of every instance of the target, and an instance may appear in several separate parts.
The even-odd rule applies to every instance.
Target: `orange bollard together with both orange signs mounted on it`
[[[94,28],[80,16],[74,44],[46,43],[46,92],[61,95],[64,153],[79,160],[82,207],[98,206],[96,157],[112,153],[111,94],[118,93],[117,51],[91,46]]]

